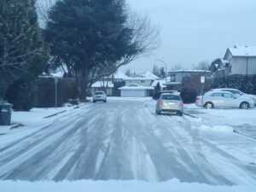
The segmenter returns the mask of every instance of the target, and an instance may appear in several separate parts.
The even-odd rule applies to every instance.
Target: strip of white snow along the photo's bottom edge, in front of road
[[[180,183],[172,179],[163,183],[142,181],[77,181],[77,182],[12,182],[0,181],[4,192],[254,192],[255,186],[212,186],[200,183]]]

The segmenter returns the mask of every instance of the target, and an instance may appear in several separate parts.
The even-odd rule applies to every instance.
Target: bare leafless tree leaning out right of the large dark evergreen
[[[149,55],[160,46],[160,26],[153,25],[147,15],[131,14],[127,25],[133,29],[133,39],[131,44],[137,45],[137,54],[125,55],[116,63],[108,63],[104,65],[98,63],[98,67],[89,75],[90,84],[94,84],[102,77],[109,76],[117,71],[119,67],[128,65],[131,61],[136,60],[140,56]]]

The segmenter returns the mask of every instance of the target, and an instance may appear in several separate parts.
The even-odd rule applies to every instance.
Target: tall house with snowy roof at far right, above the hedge
[[[234,46],[228,48],[222,66],[225,76],[256,74],[256,47]]]

